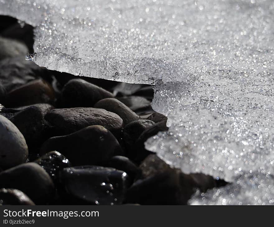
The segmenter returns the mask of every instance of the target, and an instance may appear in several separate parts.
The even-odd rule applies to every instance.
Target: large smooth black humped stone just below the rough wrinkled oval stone
[[[94,125],[67,136],[52,137],[41,147],[41,154],[59,151],[73,165],[106,163],[112,156],[122,153],[120,144],[106,128]]]

